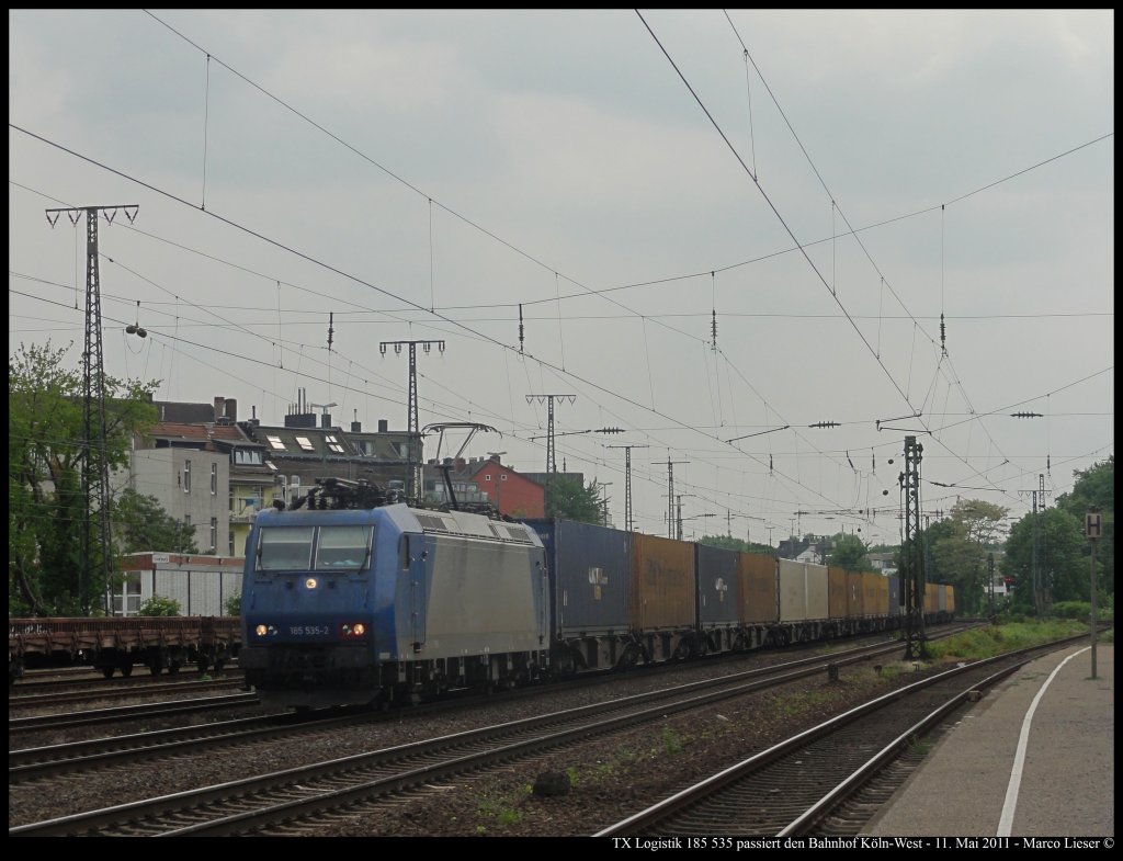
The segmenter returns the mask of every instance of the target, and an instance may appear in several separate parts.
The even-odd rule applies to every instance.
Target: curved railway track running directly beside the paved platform
[[[857,835],[923,760],[922,740],[946,729],[978,691],[1077,639],[1084,638],[960,666],[878,697],[594,836],[688,840],[714,834],[723,835],[716,845],[697,848],[733,848],[736,842],[724,841]]]

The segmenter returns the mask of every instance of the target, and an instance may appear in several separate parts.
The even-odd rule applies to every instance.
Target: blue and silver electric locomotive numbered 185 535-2
[[[513,686],[547,667],[546,577],[521,523],[400,503],[262,512],[238,662],[263,702],[296,708]]]

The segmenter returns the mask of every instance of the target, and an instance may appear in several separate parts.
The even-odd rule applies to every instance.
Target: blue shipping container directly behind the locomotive
[[[599,636],[628,628],[631,535],[570,520],[527,520],[546,548],[556,635]]]

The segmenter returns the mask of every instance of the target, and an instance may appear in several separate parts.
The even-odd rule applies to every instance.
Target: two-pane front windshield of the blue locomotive
[[[257,543],[257,570],[358,570],[369,557],[373,534],[368,525],[266,526]]]

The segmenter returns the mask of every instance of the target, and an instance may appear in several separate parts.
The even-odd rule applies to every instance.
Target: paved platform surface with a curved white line
[[[874,836],[1115,836],[1115,645],[1039,658],[960,713]],[[1103,850],[1103,844],[1099,845]]]

